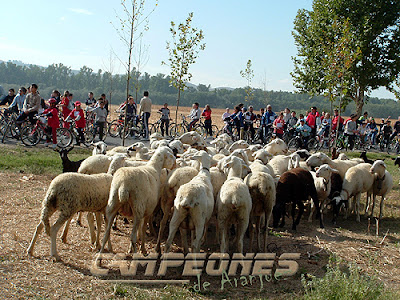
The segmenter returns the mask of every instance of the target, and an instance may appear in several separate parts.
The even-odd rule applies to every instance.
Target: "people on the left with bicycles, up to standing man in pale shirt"
[[[133,97],[129,97],[126,107],[136,114],[136,104],[132,101]],[[9,89],[8,94],[5,94],[4,89],[0,86],[0,105],[8,105],[4,110],[4,114],[18,114],[16,124],[20,126],[25,120],[34,125],[36,117],[39,116],[47,135],[46,146],[52,144],[52,147],[57,146],[57,128],[70,128],[70,123],[75,123],[75,128],[78,132],[76,145],[84,142],[83,131],[86,127],[88,118],[93,118],[93,126],[95,135],[98,133],[100,140],[103,139],[104,128],[109,115],[109,103],[105,94],[101,94],[97,99],[94,98],[93,92],[88,93],[88,98],[85,101],[85,111],[82,108],[81,101],[74,101],[74,96],[69,91],[61,93],[53,90],[50,98],[45,100],[38,91],[37,84],[31,84],[28,88],[21,87],[18,93],[14,89]],[[146,127],[146,138],[149,136],[148,120],[151,113],[151,99],[149,92],[145,91],[144,96],[140,101],[139,115]],[[134,107],[134,111],[133,110]],[[85,113],[86,112],[86,113]]]

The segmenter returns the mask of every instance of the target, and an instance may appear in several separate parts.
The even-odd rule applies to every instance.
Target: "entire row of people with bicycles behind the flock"
[[[95,133],[99,134],[99,138],[103,138],[104,127],[106,126],[107,116],[109,115],[109,103],[105,94],[95,99],[93,92],[88,93],[85,101],[85,111],[82,108],[81,101],[74,101],[73,94],[65,91],[61,96],[60,92],[53,90],[50,98],[44,100],[36,84],[30,85],[28,88],[21,87],[17,93],[14,89],[9,89],[5,94],[4,89],[0,86],[0,105],[8,105],[5,113],[18,113],[17,123],[22,123],[26,119],[34,124],[35,116],[40,114],[46,117],[47,133],[51,136],[53,147],[57,144],[56,129],[60,126],[69,128],[70,122],[75,123],[78,136],[76,144],[79,145],[84,141],[83,129],[86,126],[88,116],[94,118]],[[129,96],[127,101],[123,102],[117,111],[126,110],[127,121],[131,119],[141,119],[144,123],[146,131],[146,139],[149,137],[149,118],[151,115],[152,101],[149,98],[149,92],[145,91],[143,98],[140,100],[139,109],[135,103],[133,96]],[[86,112],[86,114],[85,114]],[[158,112],[160,113],[161,133],[167,135],[169,132],[170,110],[168,103],[165,103]],[[200,110],[199,103],[195,102],[188,115],[190,119],[188,130],[192,130],[193,126],[204,117],[204,127],[207,133],[212,135],[212,110],[210,105],[205,105]],[[251,139],[254,139],[256,131],[259,133],[260,139],[263,138],[270,130],[273,135],[282,138],[286,131],[297,131],[303,141],[306,143],[310,137],[328,138],[329,132],[343,133],[349,143],[349,148],[354,146],[355,136],[359,136],[361,141],[369,139],[372,147],[377,144],[377,137],[381,137],[383,141],[389,143],[397,134],[400,133],[400,117],[393,127],[391,121],[381,119],[380,123],[376,123],[373,117],[369,117],[367,112],[357,118],[356,114],[351,114],[346,120],[339,116],[339,111],[334,110],[331,117],[328,112],[319,112],[316,107],[311,107],[304,115],[297,114],[289,108],[278,114],[272,110],[271,105],[261,108],[259,113],[254,111],[253,106],[248,108],[243,103],[235,106],[233,113],[229,108],[222,114],[222,120],[225,123],[224,131],[233,134],[232,129],[236,128],[237,134],[241,135],[244,131],[250,131]],[[332,130],[330,130],[332,129]],[[47,140],[50,144],[50,140]]]

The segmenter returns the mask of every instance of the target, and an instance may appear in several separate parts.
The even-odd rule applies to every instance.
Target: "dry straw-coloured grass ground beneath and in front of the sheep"
[[[391,168],[393,162],[388,161]],[[62,262],[55,263],[49,257],[50,240],[45,234],[39,237],[34,257],[25,251],[39,221],[41,200],[52,178],[45,175],[0,173],[3,183],[0,187],[0,290],[2,298],[294,298],[302,293],[301,274],[323,276],[329,256],[334,253],[347,262],[355,263],[367,274],[377,276],[388,289],[400,287],[400,205],[398,172],[395,173],[396,186],[385,203],[385,218],[380,224],[380,234],[375,236],[375,224],[371,224],[368,234],[368,221],[361,223],[355,217],[349,220],[339,218],[340,227],[330,223],[331,216],[325,219],[326,228],[321,230],[317,222],[309,224],[305,218],[297,232],[290,229],[288,220],[285,230],[273,231],[269,243],[278,255],[285,252],[299,252],[301,258],[299,272],[294,277],[260,286],[228,287],[220,291],[220,278],[202,277],[211,282],[211,289],[204,294],[192,292],[187,287],[114,285],[100,281],[90,273],[95,255],[91,248],[87,226],[78,227],[74,223],[68,236],[68,243],[57,240],[58,252]],[[363,198],[364,199],[364,198]],[[362,202],[365,200],[362,200]],[[21,217],[22,216],[22,217]],[[86,222],[84,222],[86,224]],[[119,222],[120,231],[112,232],[114,251],[126,253],[129,246],[130,225]],[[215,229],[213,229],[215,230]],[[385,235],[386,234],[386,235]],[[215,236],[209,233],[204,249],[212,252],[219,245]],[[385,238],[384,238],[385,236]],[[154,249],[155,238],[149,238],[148,250]],[[245,240],[245,251],[248,247]],[[174,251],[181,251],[177,246]],[[175,275],[178,275],[177,272]],[[121,278],[113,274],[111,278]],[[140,277],[139,278],[143,278]],[[179,278],[179,277],[174,277]],[[191,279],[193,283],[194,279]]]

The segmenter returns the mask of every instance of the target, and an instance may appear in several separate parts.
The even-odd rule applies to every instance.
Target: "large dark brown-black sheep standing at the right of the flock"
[[[317,211],[316,217],[319,219],[320,227],[324,228],[318,195],[311,173],[302,168],[295,168],[283,173],[276,187],[276,204],[272,210],[273,226],[278,227],[281,218],[280,227],[285,225],[286,204],[292,203],[292,229],[296,230],[296,226],[300,223],[304,212],[304,201],[307,201],[309,197],[314,201]],[[299,208],[299,214],[295,220],[296,206]]]

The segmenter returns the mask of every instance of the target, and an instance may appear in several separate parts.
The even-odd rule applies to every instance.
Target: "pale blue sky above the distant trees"
[[[155,4],[146,0],[146,12]],[[311,7],[312,0],[159,0],[143,33],[147,51],[142,57],[147,62],[141,69],[151,75],[169,74],[161,62],[168,60],[170,23],[184,22],[193,12],[193,26],[203,30],[206,49],[190,66],[192,83],[246,86],[240,71],[251,59],[253,87],[295,91],[290,76],[291,57],[297,53],[293,20],[299,9]],[[120,28],[118,16],[124,17],[120,0],[14,0],[4,1],[2,10],[6,13],[0,31],[1,60],[41,66],[62,63],[77,70],[86,65],[95,72],[124,73],[121,61],[127,61],[127,47],[115,29]],[[394,99],[383,88],[371,96]]]

